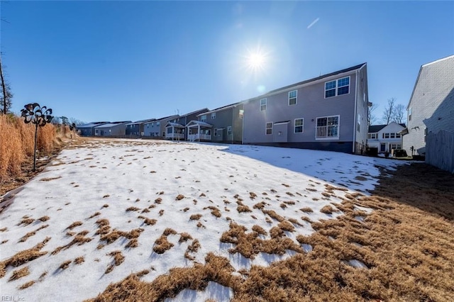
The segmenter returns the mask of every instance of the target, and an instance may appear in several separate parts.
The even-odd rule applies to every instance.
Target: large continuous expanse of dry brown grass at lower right
[[[309,253],[299,252],[270,267],[253,266],[243,276],[232,274],[228,259],[209,254],[205,265],[172,269],[150,283],[131,274],[94,301],[162,301],[182,289],[203,290],[208,281],[231,287],[233,301],[242,302],[453,301],[453,175],[426,164],[387,173],[392,177],[381,178],[372,196],[348,194],[336,204],[343,216],[312,223],[316,233],[297,236],[299,243],[313,247]],[[360,213],[355,205],[374,211],[360,222],[355,220]],[[282,245],[279,240],[290,242],[279,237],[278,229],[273,230],[276,242],[258,245],[258,228],[246,233],[243,226],[231,223],[221,241],[233,243],[242,255],[252,256],[257,250],[279,253],[273,250]],[[345,264],[351,259],[367,268]]]

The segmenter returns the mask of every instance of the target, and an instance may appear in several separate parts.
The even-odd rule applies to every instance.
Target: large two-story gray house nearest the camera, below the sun
[[[367,143],[367,64],[243,101],[243,143],[360,154]]]

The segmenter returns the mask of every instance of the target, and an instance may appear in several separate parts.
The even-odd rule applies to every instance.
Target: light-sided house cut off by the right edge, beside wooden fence
[[[406,110],[409,155],[426,156],[428,133],[454,133],[454,55],[421,66]]]

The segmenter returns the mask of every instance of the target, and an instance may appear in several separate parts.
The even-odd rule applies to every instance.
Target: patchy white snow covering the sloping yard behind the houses
[[[133,272],[148,269],[142,279],[153,281],[172,267],[204,263],[208,252],[230,259],[237,271],[267,266],[296,252],[231,254],[234,245],[220,241],[231,222],[247,232],[260,226],[266,240],[279,223],[269,214],[274,211],[292,223],[294,231],[284,233],[299,245],[297,235],[314,232],[302,216],[342,215],[321,208],[352,192],[367,195],[378,167],[397,164],[404,162],[277,147],[89,140],[62,151],[0,214],[1,295],[82,301]],[[327,185],[341,189],[327,194]],[[12,260],[33,247],[35,259]],[[209,282],[204,292],[186,289],[167,300],[231,296],[231,289]]]

